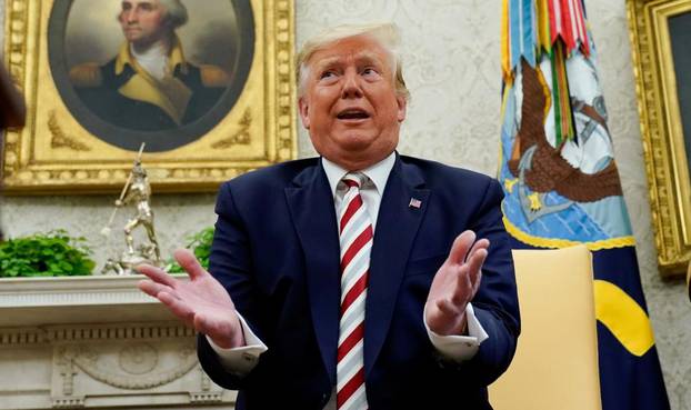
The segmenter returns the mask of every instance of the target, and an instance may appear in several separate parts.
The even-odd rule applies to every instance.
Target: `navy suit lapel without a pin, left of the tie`
[[[333,194],[321,163],[302,171],[286,198],[304,252],[310,309],[321,358],[336,384],[340,248]]]

